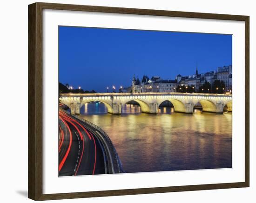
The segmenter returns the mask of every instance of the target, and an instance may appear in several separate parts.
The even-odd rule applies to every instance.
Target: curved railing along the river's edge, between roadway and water
[[[70,114],[66,110],[63,110],[63,111],[65,111],[67,114]],[[105,141],[107,141],[108,148],[110,149],[110,151],[114,155],[114,159],[115,159],[115,162],[116,162],[116,165],[117,165],[118,173],[123,173],[124,170],[123,170],[120,158],[118,156],[118,153],[115,150],[115,146],[113,145],[112,141],[108,137],[108,134],[103,129],[101,129],[99,126],[96,126],[94,123],[91,123],[90,121],[87,121],[87,120],[85,120],[85,119],[83,119],[83,118],[81,118],[80,116],[77,116],[77,115],[72,115],[72,116],[74,116],[75,118],[79,119],[80,121],[86,123],[88,126],[94,128],[95,130],[97,130],[98,132],[101,133],[101,135],[104,137]]]

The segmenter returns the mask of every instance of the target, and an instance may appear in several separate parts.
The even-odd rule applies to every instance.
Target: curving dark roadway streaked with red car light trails
[[[59,176],[105,174],[105,154],[96,132],[59,110]]]

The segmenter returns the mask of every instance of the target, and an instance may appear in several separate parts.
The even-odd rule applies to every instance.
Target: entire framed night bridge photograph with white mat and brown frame
[[[28,6],[28,196],[249,187],[249,16]]]

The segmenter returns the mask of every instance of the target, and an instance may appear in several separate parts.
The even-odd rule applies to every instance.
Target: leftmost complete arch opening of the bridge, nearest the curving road
[[[113,113],[111,105],[104,101],[88,101],[81,104],[81,114],[107,114]]]

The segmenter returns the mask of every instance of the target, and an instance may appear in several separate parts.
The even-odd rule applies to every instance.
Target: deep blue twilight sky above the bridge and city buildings
[[[181,74],[232,64],[232,35],[59,26],[59,81],[106,92],[143,74]]]

